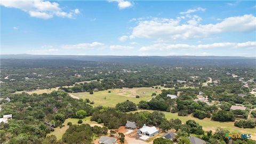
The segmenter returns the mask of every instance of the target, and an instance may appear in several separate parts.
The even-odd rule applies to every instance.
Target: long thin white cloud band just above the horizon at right
[[[140,51],[168,51],[172,49],[212,49],[212,48],[250,48],[256,49],[256,42],[245,42],[245,43],[213,43],[213,44],[165,44],[158,43],[148,46],[142,46]]]

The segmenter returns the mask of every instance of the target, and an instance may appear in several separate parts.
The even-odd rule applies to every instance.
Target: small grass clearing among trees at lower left
[[[91,119],[91,116],[88,116],[88,117],[86,117],[86,118],[83,118],[82,120],[83,120],[83,124],[98,124],[97,122],[94,122],[94,121],[90,121],[90,119]],[[62,128],[60,128],[60,127],[56,127],[56,128],[54,128],[54,131],[53,132],[51,132],[51,133],[49,133],[49,134],[47,134],[47,135],[55,135],[56,137],[57,137],[57,140],[60,140],[61,138],[62,138],[62,135],[66,132],[66,130],[68,129],[68,122],[71,122],[72,124],[78,124],[77,122],[78,122],[78,118],[68,118],[68,119],[66,119],[65,120],[65,122],[63,123],[63,125],[65,125],[65,126],[63,126]]]

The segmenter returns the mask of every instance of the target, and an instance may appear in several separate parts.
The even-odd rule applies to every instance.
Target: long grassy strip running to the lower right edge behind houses
[[[137,110],[139,111],[145,111],[145,110]],[[135,113],[137,111],[132,111],[132,113]],[[150,113],[153,113],[154,110],[147,110]],[[198,119],[195,118],[191,115],[189,116],[178,116],[178,113],[170,113],[170,112],[166,112],[166,111],[162,111],[165,114],[165,117],[167,119],[171,119],[171,118],[179,118],[181,120],[182,123],[186,123],[186,121],[188,121],[189,119],[192,119],[194,121],[196,121],[198,124],[203,126],[203,130],[205,131],[210,131],[212,130],[213,132],[217,129],[217,127],[221,127],[223,129],[226,129],[232,133],[251,133],[252,137],[251,139],[256,140],[256,128],[253,129],[242,129],[239,127],[234,126],[234,122],[217,122],[217,121],[212,121],[210,118],[204,118],[204,119]]]

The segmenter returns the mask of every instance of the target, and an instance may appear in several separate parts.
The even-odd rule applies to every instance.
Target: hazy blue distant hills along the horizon
[[[8,62],[15,62],[10,59],[22,59],[22,61],[36,60],[36,62],[54,62],[63,60],[63,64],[71,61],[97,61],[115,62],[130,64],[166,65],[166,66],[250,66],[255,68],[255,57],[217,57],[217,56],[113,56],[113,55],[31,55],[31,54],[3,54],[1,55],[1,65]],[[5,59],[5,60],[4,60]],[[9,60],[7,60],[9,59]],[[64,61],[65,60],[65,61]],[[69,62],[68,62],[69,61]],[[3,63],[4,62],[4,63]],[[17,61],[18,62],[18,61]]]

